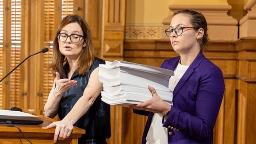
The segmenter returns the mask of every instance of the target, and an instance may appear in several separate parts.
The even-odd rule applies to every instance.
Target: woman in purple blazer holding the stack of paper
[[[134,106],[135,113],[148,116],[142,143],[213,143],[225,86],[220,68],[202,53],[208,41],[206,19],[196,11],[178,11],[165,33],[179,54],[161,65],[175,73],[169,80],[173,104],[148,86],[153,98]]]

